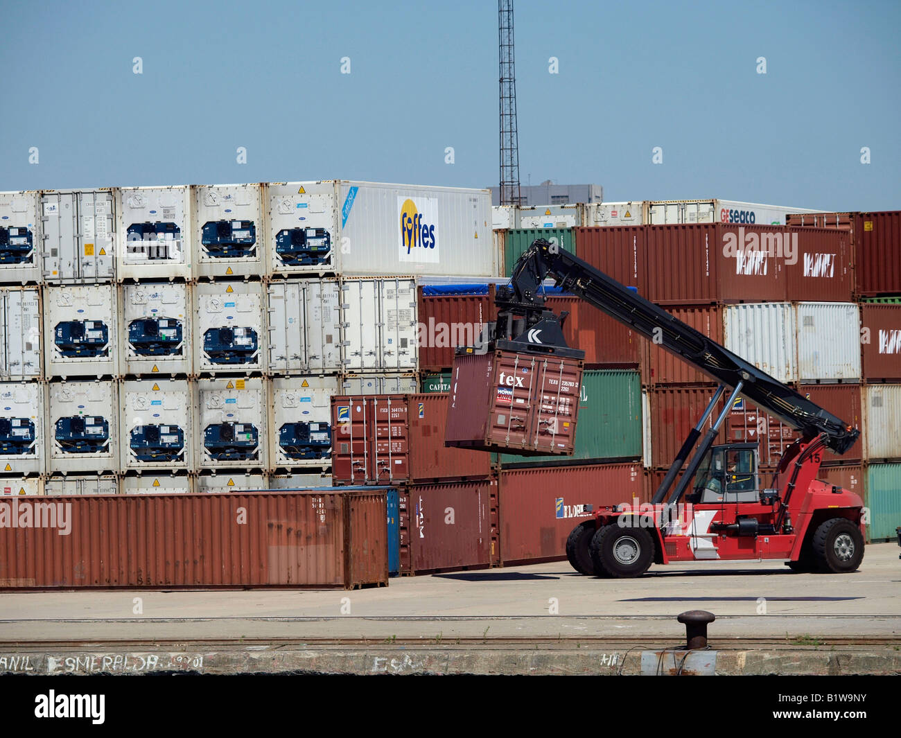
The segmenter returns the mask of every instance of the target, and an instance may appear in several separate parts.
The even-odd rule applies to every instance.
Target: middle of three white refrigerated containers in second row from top
[[[141,282],[121,287],[119,349],[123,374],[193,371],[192,296],[186,284]]]

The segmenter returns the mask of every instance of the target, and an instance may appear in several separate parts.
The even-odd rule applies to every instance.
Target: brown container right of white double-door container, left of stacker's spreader
[[[473,345],[485,323],[497,318],[494,285],[488,285],[487,295],[423,295],[423,287],[418,293],[423,371],[450,369],[454,348]]]

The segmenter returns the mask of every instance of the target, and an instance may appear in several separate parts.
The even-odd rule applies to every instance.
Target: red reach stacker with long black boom
[[[719,383],[651,505],[636,510],[623,501],[592,510],[594,518],[570,533],[573,568],[598,577],[638,577],[652,563],[670,561],[774,559],[787,560],[795,571],[836,573],[860,566],[863,502],[816,478],[824,450],[848,451],[860,431],[549,241],[534,241],[516,262],[509,286],[496,292],[498,319],[486,338],[497,348],[562,355],[577,350],[566,345],[560,316],[544,309],[542,284],[549,276]],[[726,393],[724,409],[714,417]],[[800,434],[769,487],[760,484],[757,444],[714,445],[739,396]]]

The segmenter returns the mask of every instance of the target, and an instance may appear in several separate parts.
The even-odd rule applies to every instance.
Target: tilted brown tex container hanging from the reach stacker
[[[582,360],[550,354],[458,354],[445,443],[523,456],[572,455]]]

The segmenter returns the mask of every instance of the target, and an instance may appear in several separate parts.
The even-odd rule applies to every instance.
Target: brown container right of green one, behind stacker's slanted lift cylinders
[[[715,387],[657,387],[648,392],[651,406],[651,466],[665,467],[676,458],[688,433],[711,398]],[[714,416],[722,409],[722,404],[707,419],[706,432],[713,426]],[[725,433],[721,429],[716,442],[724,442]]]

